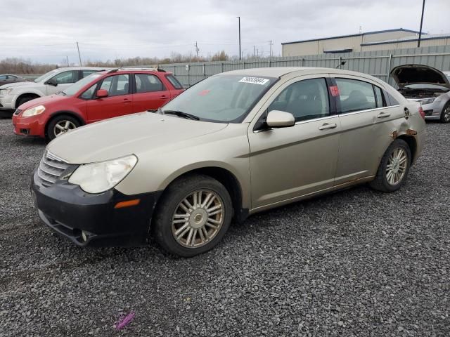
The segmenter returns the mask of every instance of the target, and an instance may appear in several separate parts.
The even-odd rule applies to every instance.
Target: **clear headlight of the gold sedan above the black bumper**
[[[105,192],[120,183],[137,162],[137,157],[131,154],[109,161],[80,165],[70,176],[69,183],[79,185],[84,192]]]

